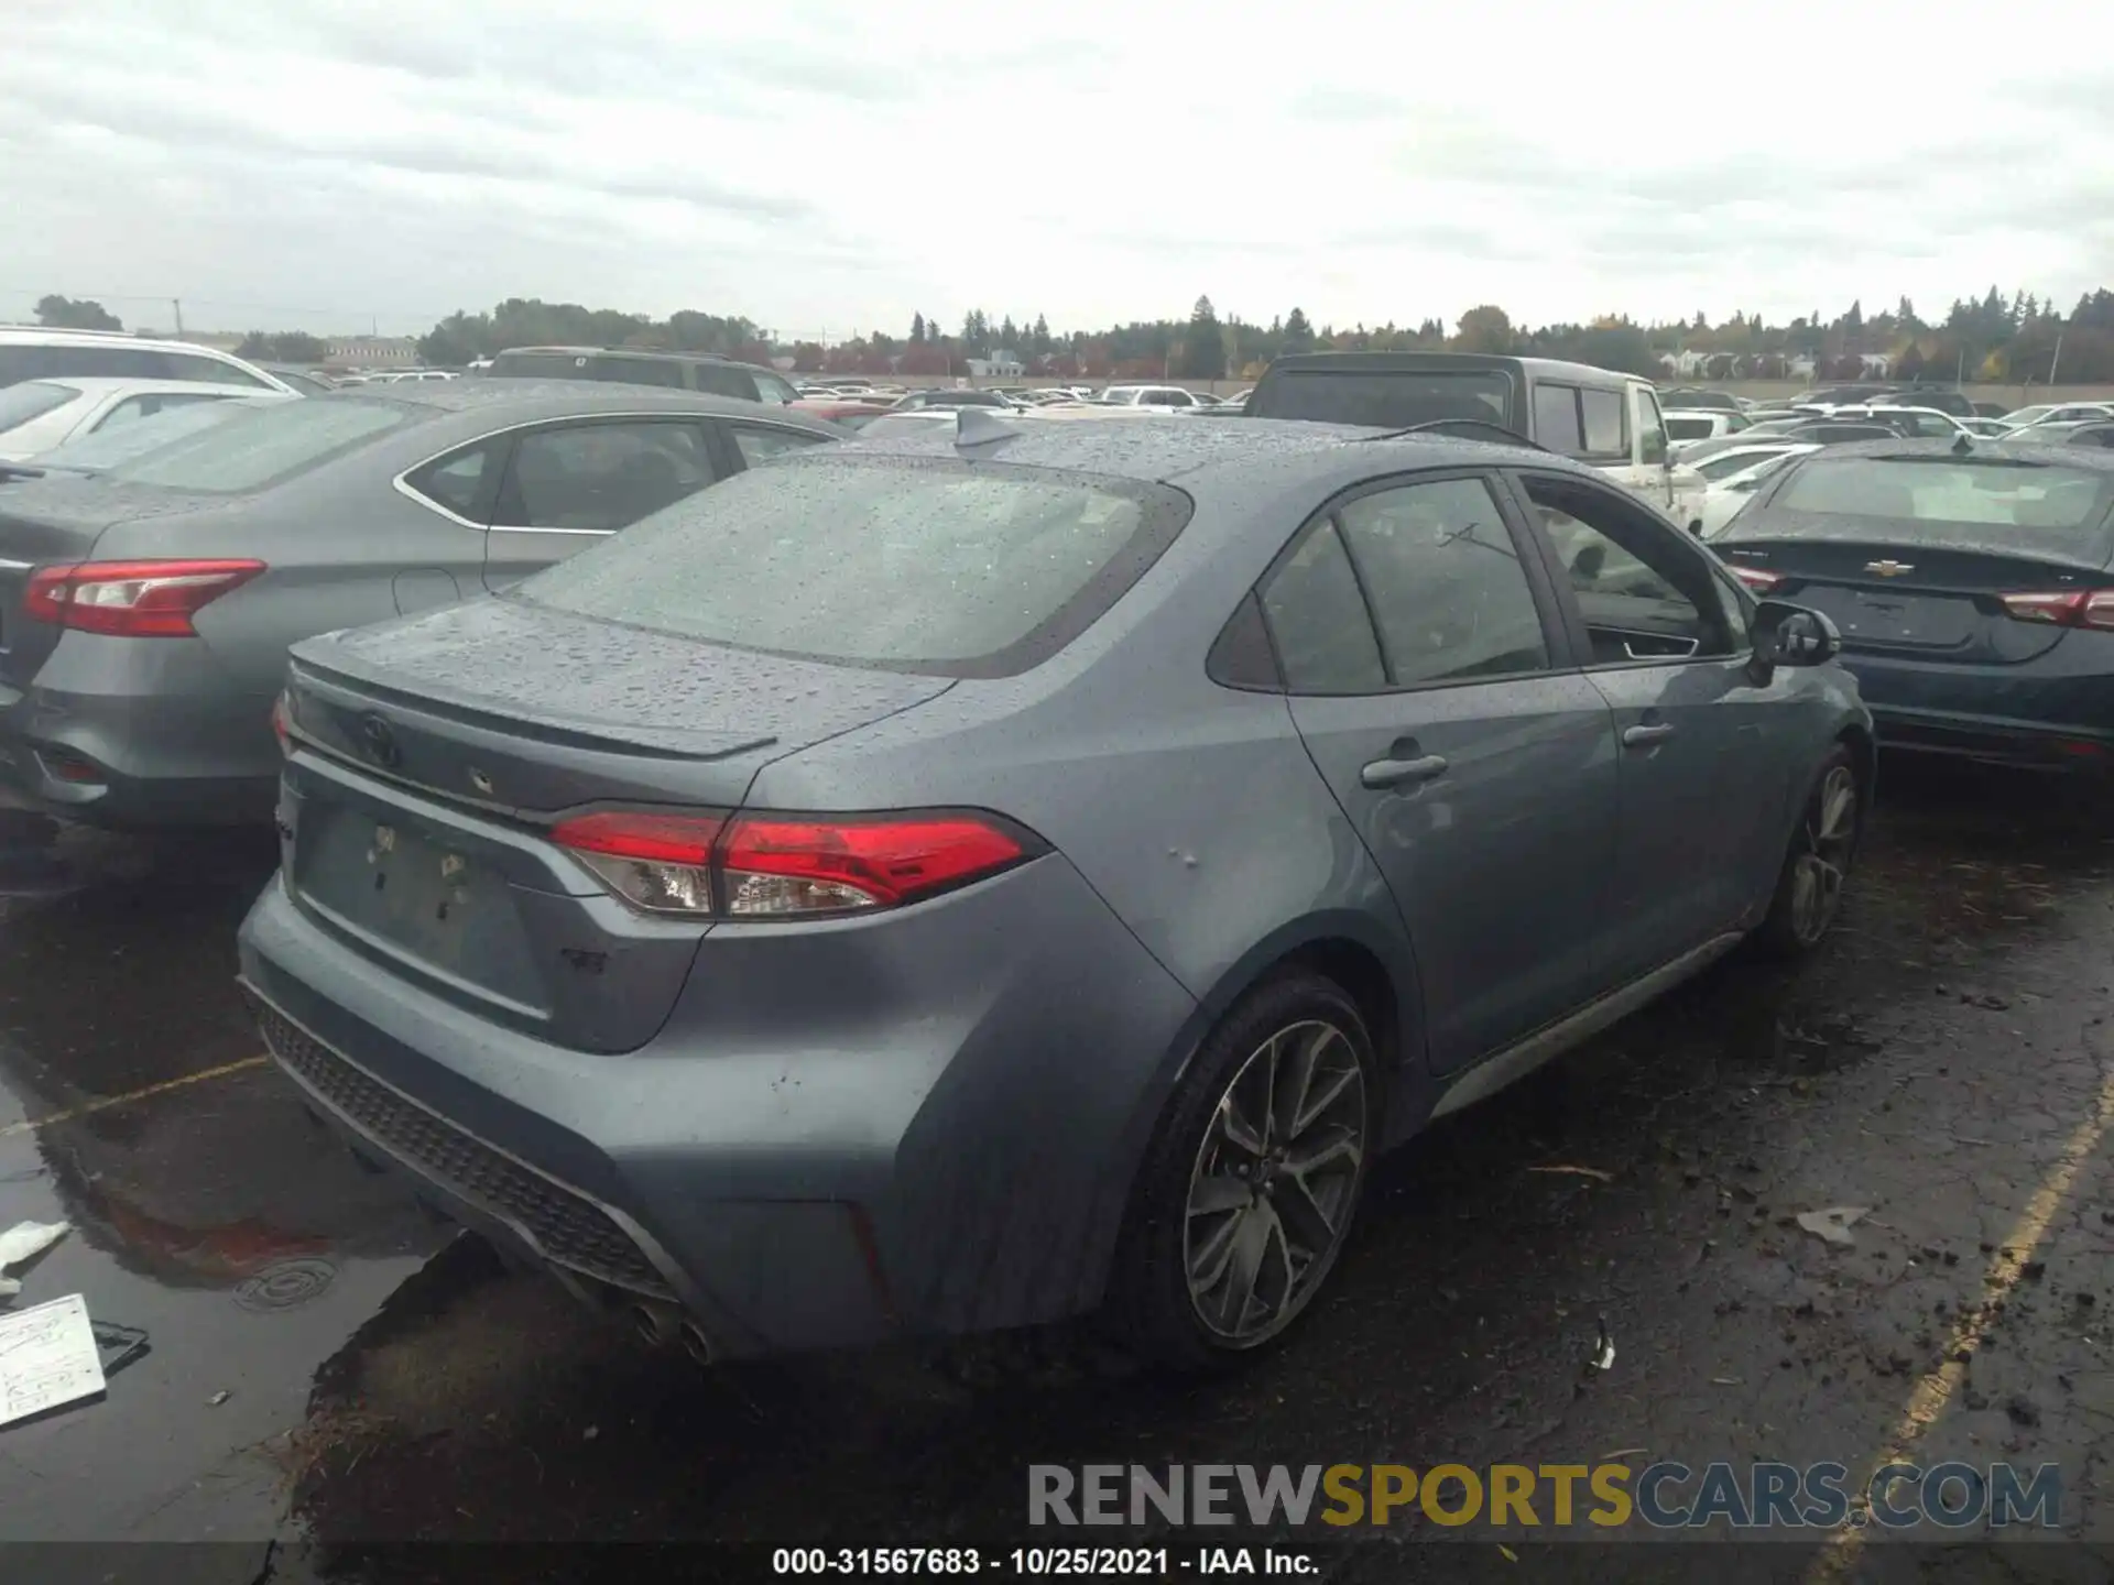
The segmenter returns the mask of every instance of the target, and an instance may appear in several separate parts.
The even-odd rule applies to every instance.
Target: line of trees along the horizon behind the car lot
[[[123,330],[91,298],[47,296],[36,304],[38,323],[78,330]],[[824,347],[816,340],[780,340],[755,319],[683,309],[666,319],[577,302],[507,298],[488,313],[457,311],[419,338],[419,355],[440,368],[459,368],[505,347],[643,347],[660,351],[721,353],[753,363],[791,357],[803,374],[909,374],[968,372],[970,359],[1013,357],[1023,372],[1053,378],[1254,378],[1283,355],[1302,351],[1473,351],[1564,357],[1600,368],[1659,378],[1668,359],[1687,355],[1704,378],[1852,378],[1862,359],[1884,355],[1896,378],[1966,378],[2008,385],[2114,380],[2114,292],[2101,287],[2078,298],[2065,315],[2032,292],[2008,298],[1989,287],[1981,298],[1955,298],[1943,319],[1924,319],[1909,298],[1867,315],[1862,302],[1824,319],[1820,311],[1786,325],[1759,313],[1733,313],[1721,323],[1698,313],[1689,321],[1640,325],[1628,315],[1600,315],[1592,323],[1524,328],[1497,304],[1467,309],[1448,334],[1442,319],[1414,328],[1315,325],[1302,309],[1260,325],[1220,315],[1211,298],[1197,298],[1186,319],[1135,319],[1106,330],[1053,332],[1044,315],[991,317],[972,309],[960,330],[947,332],[926,313],[911,315],[909,334],[869,330]],[[304,332],[249,332],[245,357],[313,363],[323,342]]]

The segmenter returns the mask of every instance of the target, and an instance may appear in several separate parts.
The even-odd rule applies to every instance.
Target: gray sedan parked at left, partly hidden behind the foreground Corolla
[[[264,820],[296,638],[501,588],[841,433],[683,391],[446,380],[245,406],[95,478],[15,469],[0,776],[97,824]]]

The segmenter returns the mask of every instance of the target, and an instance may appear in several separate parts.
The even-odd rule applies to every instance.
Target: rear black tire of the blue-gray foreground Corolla
[[[1271,1082],[1275,1067],[1256,1067],[1273,1044],[1285,1063],[1283,1086]],[[1309,1084],[1296,1097],[1302,1063]],[[1264,1093],[1271,1095],[1260,1139],[1266,1150],[1258,1156],[1230,1133],[1251,1137],[1245,1114]],[[1353,1097],[1355,1162],[1347,1169],[1338,1135],[1353,1131]],[[1317,1110],[1321,1099],[1328,1105]],[[1197,1048],[1131,1188],[1108,1306],[1125,1344],[1184,1372],[1226,1367],[1277,1344],[1311,1308],[1342,1253],[1378,1137],[1380,1099],[1372,1036],[1340,985],[1300,970],[1243,995]],[[1311,1122],[1292,1126],[1302,1112]],[[1241,1126],[1228,1118],[1241,1118]],[[1285,1126],[1292,1133],[1277,1139]],[[1309,1164],[1302,1169],[1298,1160]],[[1247,1194],[1247,1205],[1192,1213],[1192,1190],[1205,1200]],[[1228,1226],[1232,1232],[1224,1232]],[[1319,1243],[1321,1228],[1328,1247],[1302,1260],[1296,1245]],[[1194,1293],[1192,1262],[1209,1270],[1218,1238],[1228,1241],[1226,1283]],[[1245,1295],[1243,1260],[1256,1272]],[[1273,1295],[1281,1295],[1275,1312],[1249,1325],[1256,1306],[1268,1308]]]

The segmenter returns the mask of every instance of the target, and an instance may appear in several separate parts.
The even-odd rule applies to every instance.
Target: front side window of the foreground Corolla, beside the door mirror
[[[1528,476],[1526,495],[1577,596],[1596,666],[1729,655],[1706,560],[1607,490]]]

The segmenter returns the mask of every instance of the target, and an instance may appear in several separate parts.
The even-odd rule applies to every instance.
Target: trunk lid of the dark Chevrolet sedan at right
[[[1769,598],[1829,615],[1846,655],[2017,666],[2065,640],[2067,630],[2021,621],[2004,594],[2072,594],[2114,585],[2103,568],[2063,556],[1951,547],[1907,537],[1858,539],[1742,535],[1719,543],[1733,568],[1780,581]]]

